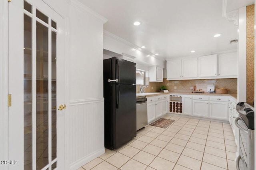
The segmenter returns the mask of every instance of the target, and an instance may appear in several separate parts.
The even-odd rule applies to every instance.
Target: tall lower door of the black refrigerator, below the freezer
[[[113,146],[119,148],[136,136],[136,85],[115,85],[114,91]]]

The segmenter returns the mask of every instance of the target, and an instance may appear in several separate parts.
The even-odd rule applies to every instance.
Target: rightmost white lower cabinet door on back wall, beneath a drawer
[[[228,102],[210,101],[210,118],[228,120]]]

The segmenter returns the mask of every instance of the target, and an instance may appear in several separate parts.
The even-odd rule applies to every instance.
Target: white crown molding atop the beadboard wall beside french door
[[[74,8],[76,8],[79,11],[83,12],[84,14],[89,14],[90,16],[95,18],[96,20],[102,22],[102,24],[104,24],[104,23],[106,23],[108,21],[106,18],[104,18],[103,16],[101,16],[100,14],[95,12],[94,10],[88,8],[87,6],[85,6],[84,4],[79,2],[78,0],[67,0],[67,2],[71,6],[73,6]]]

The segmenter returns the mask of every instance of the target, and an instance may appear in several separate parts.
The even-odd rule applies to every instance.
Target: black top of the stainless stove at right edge
[[[240,102],[236,105],[236,111],[239,113],[239,116],[248,129],[254,130],[254,107],[248,103]]]

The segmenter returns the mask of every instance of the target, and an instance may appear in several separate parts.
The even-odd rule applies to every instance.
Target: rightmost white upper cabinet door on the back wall
[[[237,53],[220,54],[218,66],[218,76],[237,77]]]

